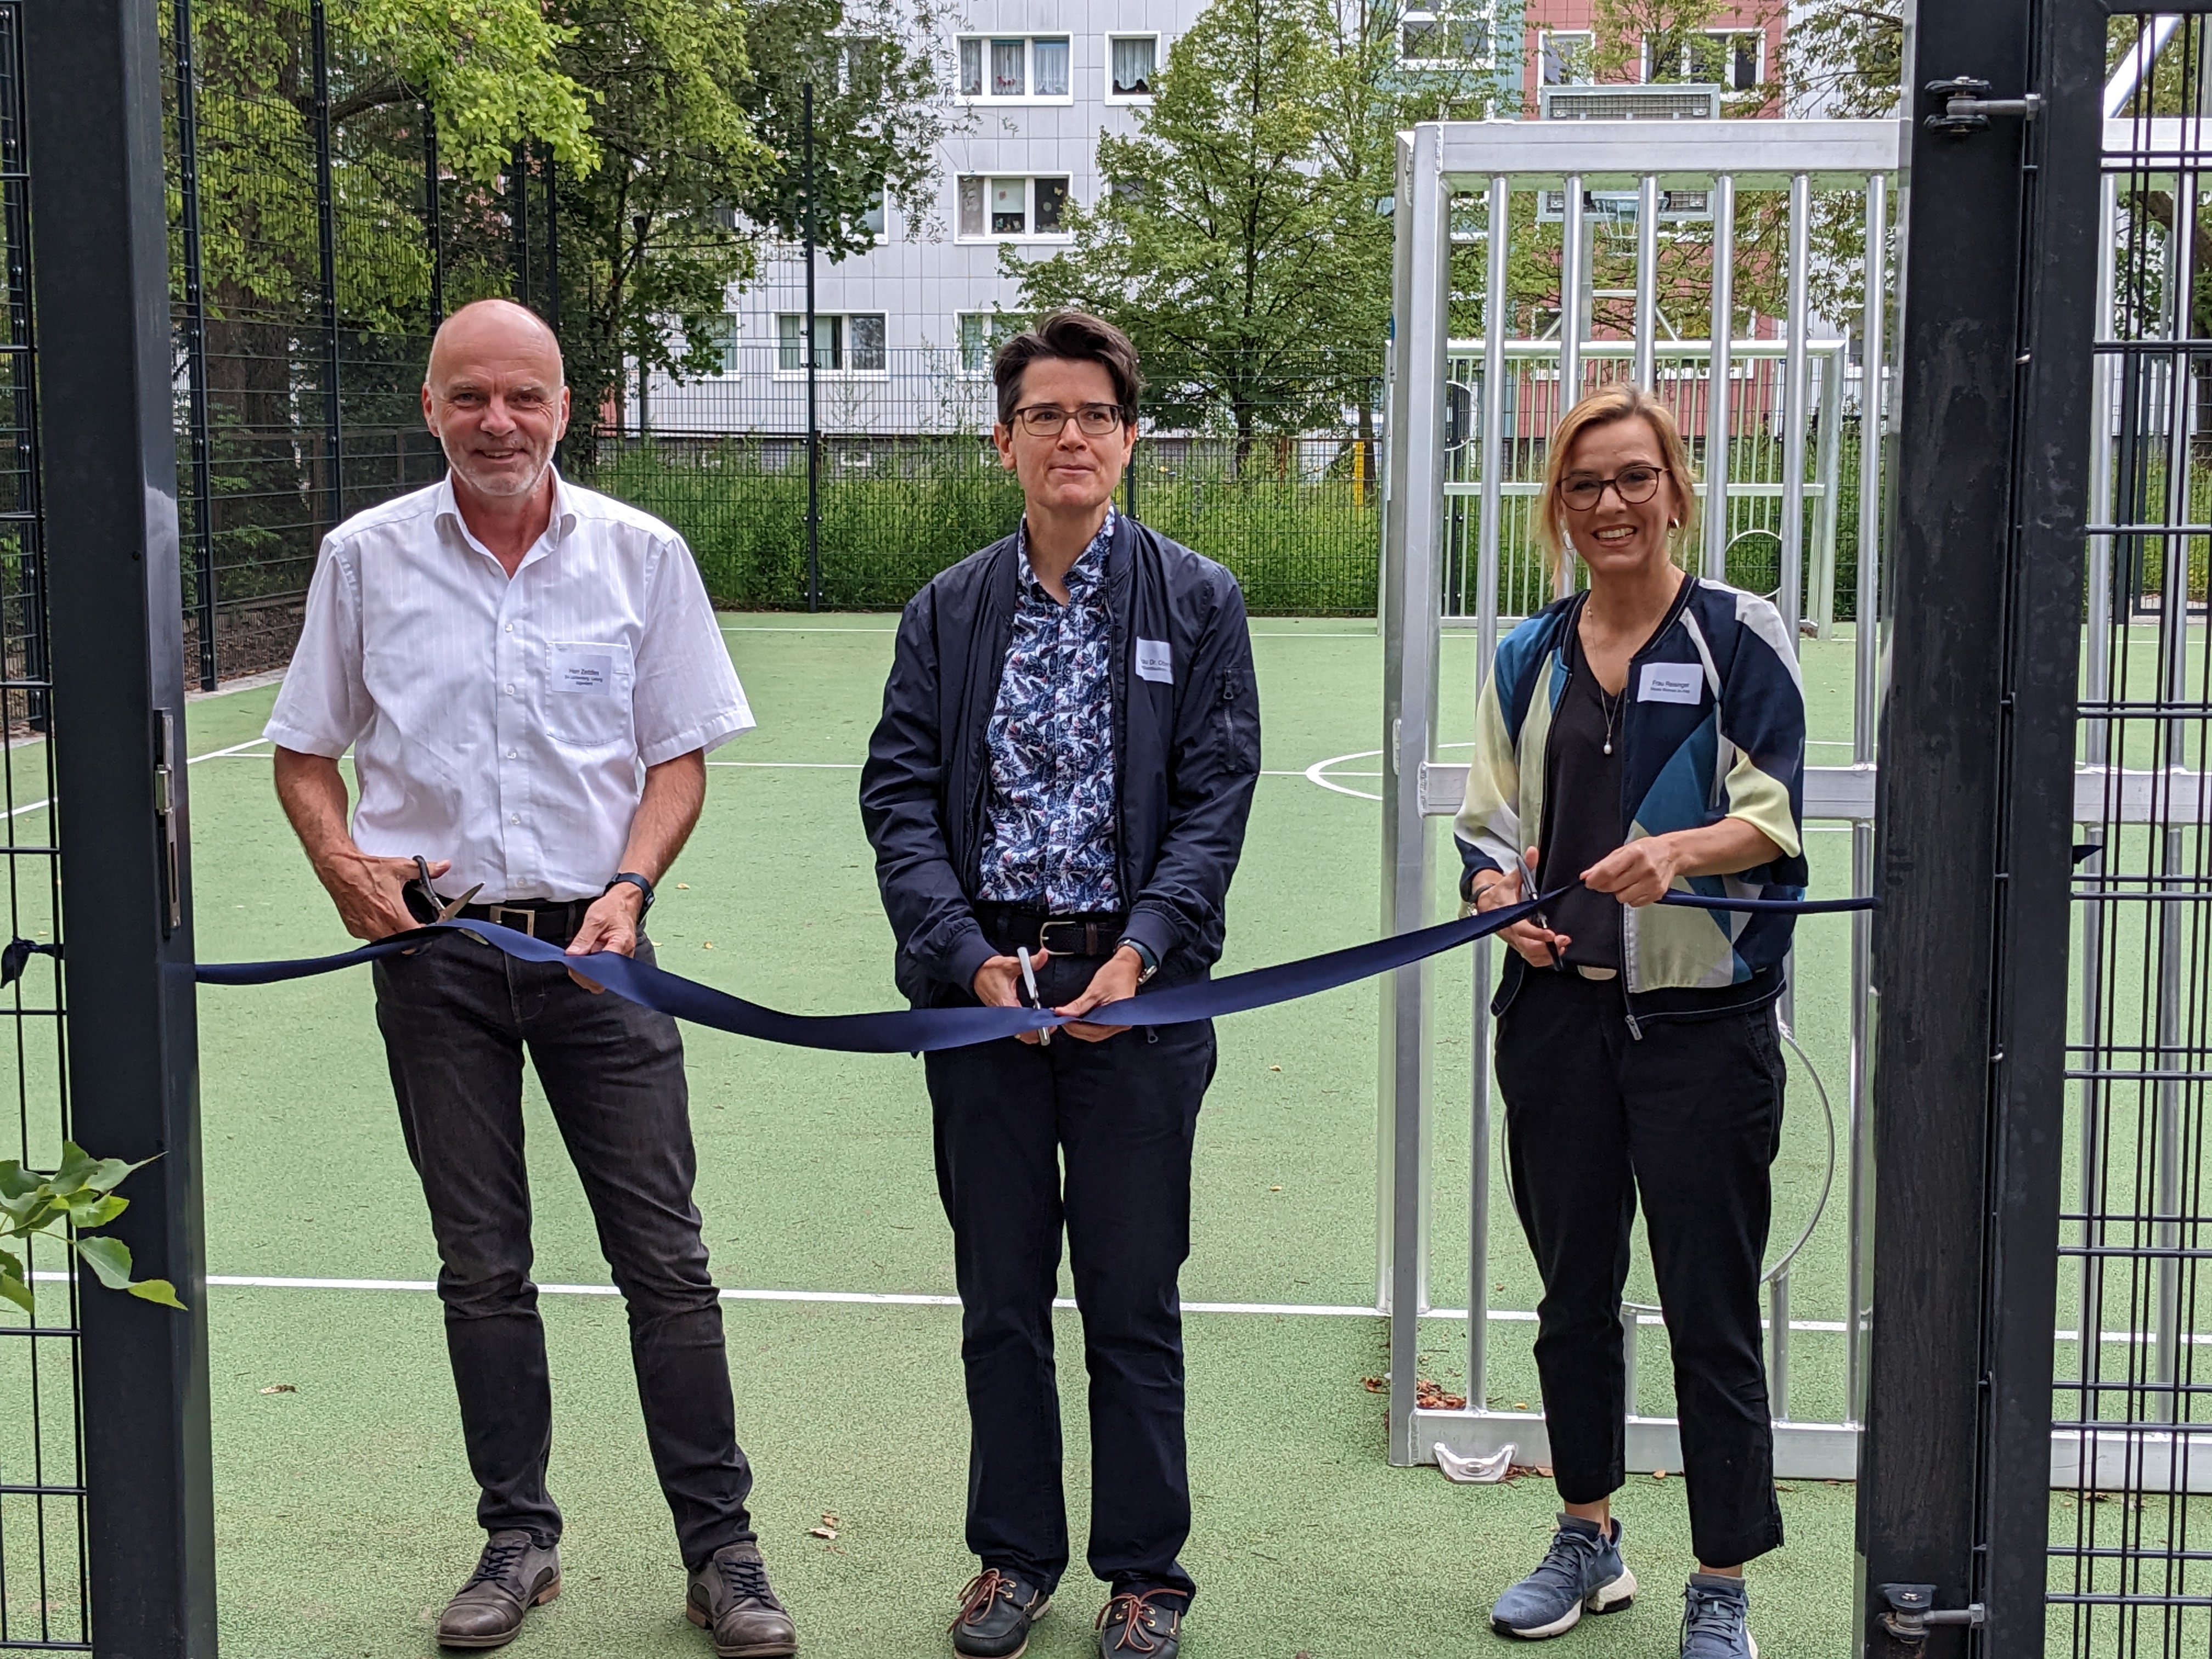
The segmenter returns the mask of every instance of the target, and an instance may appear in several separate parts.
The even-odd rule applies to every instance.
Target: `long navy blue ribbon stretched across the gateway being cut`
[[[1367,945],[1352,945],[1343,951],[1307,956],[1298,962],[1281,962],[1276,967],[1252,969],[1248,973],[1230,973],[1221,980],[1190,980],[1188,984],[1177,984],[1166,991],[1148,991],[1124,1002],[1108,1002],[1093,1009],[1084,1015],[1084,1020],[1108,1026],[1170,1026],[1190,1020],[1214,1020],[1225,1013],[1245,1013],[1248,1009],[1265,1009],[1272,1002],[1292,1002],[1296,998],[1314,995],[1316,991],[1334,991],[1340,984],[1352,984],[1354,980],[1365,980],[1376,973],[1389,973],[1391,969],[1409,967],[1411,962],[1469,945],[1478,938],[1489,938],[1502,927],[1511,927],[1513,922],[1535,914],[1542,905],[1548,905],[1564,891],[1566,887],[1557,887],[1548,894],[1522,900],[1520,905],[1480,911],[1453,922],[1438,922],[1436,927],[1422,927],[1411,933],[1394,933],[1389,938],[1369,940]],[[1874,907],[1871,898],[1705,898],[1703,894],[1666,894],[1661,902],[1690,905],[1692,909],[1763,911],[1834,911]],[[617,956],[613,951],[568,956],[560,945],[531,938],[529,933],[518,933],[511,927],[493,927],[491,922],[431,922],[429,927],[394,933],[392,938],[363,945],[354,951],[310,956],[294,962],[201,962],[195,969],[195,975],[201,984],[276,984],[281,980],[305,980],[316,973],[336,973],[338,969],[376,962],[385,956],[418,951],[425,945],[434,945],[440,933],[467,933],[522,962],[549,962],[575,969],[593,984],[604,984],[608,991],[615,991],[630,1002],[675,1015],[677,1020],[690,1020],[692,1024],[730,1031],[739,1037],[783,1042],[794,1048],[834,1048],[841,1053],[863,1055],[925,1053],[931,1048],[962,1048],[975,1042],[995,1042],[998,1037],[1013,1037],[1022,1031],[1053,1031],[1071,1024],[1071,1020],[1053,1013],[1051,1009],[960,1006],[894,1009],[887,1013],[781,1013],[628,956]]]

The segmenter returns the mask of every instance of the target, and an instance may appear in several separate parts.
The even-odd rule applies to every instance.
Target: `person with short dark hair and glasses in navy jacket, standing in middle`
[[[925,1060],[971,1420],[953,1652],[1006,1659],[1068,1564],[1053,1292],[1066,1225],[1091,1374],[1091,1571],[1106,1659],[1175,1659],[1194,1584],[1177,1274],[1210,1022],[1082,1015],[1206,978],[1259,776],[1237,580],[1113,507],[1137,352],[1053,312],[998,352],[1022,524],[898,626],[860,816],[916,1006],[1075,1015]],[[1062,1177],[1062,1161],[1066,1175]]]

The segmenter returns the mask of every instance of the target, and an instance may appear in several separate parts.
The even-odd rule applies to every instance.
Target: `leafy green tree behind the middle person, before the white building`
[[[1214,0],[1168,51],[1135,137],[1099,137],[1106,195],[1073,248],[1002,252],[1022,307],[1082,305],[1135,341],[1161,425],[1237,434],[1334,422],[1389,321],[1394,135],[1480,113],[1486,60],[1409,75],[1400,11],[1367,0]],[[1458,40],[1458,38],[1455,38]]]

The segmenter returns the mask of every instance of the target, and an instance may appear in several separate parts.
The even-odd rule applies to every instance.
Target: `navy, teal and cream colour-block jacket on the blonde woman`
[[[1562,641],[1586,595],[1559,599],[1498,644],[1475,701],[1475,757],[1453,823],[1467,872],[1511,869],[1542,843],[1544,743],[1566,695]],[[1621,843],[1745,818],[1783,856],[1677,887],[1732,898],[1805,896],[1805,688],[1781,613],[1690,577],[1652,641],[1628,664],[1621,712]],[[1778,969],[1790,914],[1648,905],[1624,914],[1628,993],[1721,989]],[[1520,958],[1513,958],[1517,962]],[[1511,998],[1517,978],[1509,978]]]

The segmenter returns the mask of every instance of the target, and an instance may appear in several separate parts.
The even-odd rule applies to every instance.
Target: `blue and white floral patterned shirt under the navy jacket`
[[[1060,604],[1015,542],[1020,602],[991,710],[991,801],[982,898],[1055,916],[1119,909],[1113,781],[1113,611],[1106,553],[1117,513],[1068,571]]]

